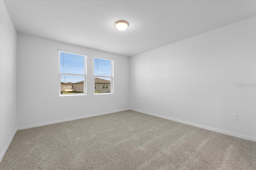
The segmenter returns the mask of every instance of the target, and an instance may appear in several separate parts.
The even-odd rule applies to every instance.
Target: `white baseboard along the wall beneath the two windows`
[[[115,113],[115,112],[118,112],[118,111],[125,111],[125,110],[129,110],[129,109],[120,109],[120,110],[114,110],[114,111],[107,111],[107,112],[103,112],[103,113],[96,113],[96,114],[92,114],[92,115],[73,117],[73,118],[69,118],[69,119],[62,119],[62,120],[57,120],[57,121],[49,121],[49,122],[38,123],[38,124],[34,124],[34,125],[21,126],[21,127],[17,127],[17,129],[18,130],[29,129],[29,128],[32,128],[32,127],[39,127],[39,126],[45,126],[45,125],[50,125],[50,124],[54,124],[54,123],[61,123],[61,122],[65,122],[65,121],[72,121],[72,120],[76,120],[76,119],[83,119],[83,118],[86,118],[86,117],[106,115],[106,114],[109,114],[109,113]]]

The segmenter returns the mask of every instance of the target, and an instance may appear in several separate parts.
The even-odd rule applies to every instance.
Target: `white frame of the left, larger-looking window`
[[[73,73],[62,73],[60,72],[60,53],[69,53],[73,55],[84,56],[84,74],[73,74]],[[84,96],[87,95],[87,55],[82,53],[76,53],[66,50],[59,49],[59,96]],[[70,94],[61,94],[61,75],[74,75],[74,76],[84,76],[84,92],[83,93],[70,93]],[[73,86],[73,85],[72,85]]]

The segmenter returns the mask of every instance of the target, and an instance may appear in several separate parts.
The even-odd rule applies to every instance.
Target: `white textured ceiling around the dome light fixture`
[[[256,15],[256,1],[4,1],[18,33],[133,56]],[[130,26],[118,31],[115,21]]]

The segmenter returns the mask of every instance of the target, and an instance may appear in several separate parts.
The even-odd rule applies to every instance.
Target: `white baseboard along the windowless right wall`
[[[183,120],[174,119],[174,118],[171,118],[171,117],[166,117],[166,116],[162,116],[162,115],[157,115],[157,114],[154,114],[154,113],[149,113],[149,112],[141,111],[141,110],[137,110],[137,109],[132,109],[132,108],[130,108],[130,110],[138,111],[138,112],[140,112],[140,113],[145,113],[145,114],[152,115],[152,116],[156,116],[156,117],[161,117],[161,118],[168,119],[168,120],[172,120],[172,121],[176,121],[176,122],[179,122],[179,123],[184,123],[184,124],[191,125],[191,126],[195,126],[195,127],[200,127],[200,128],[203,128],[203,129],[207,129],[207,130],[214,131],[214,132],[218,132],[218,133],[223,133],[223,134],[230,135],[230,136],[234,136],[234,137],[239,137],[239,138],[242,138],[242,139],[247,139],[247,140],[250,140],[250,141],[256,141],[256,138],[255,138],[255,137],[250,137],[250,136],[246,136],[246,135],[241,135],[241,134],[233,133],[233,132],[229,132],[229,131],[223,131],[223,130],[221,130],[221,129],[216,129],[216,128],[213,128],[213,127],[208,127],[208,126],[199,125],[199,124],[196,124],[196,123],[191,123],[191,122],[188,122],[188,121],[183,121]]]

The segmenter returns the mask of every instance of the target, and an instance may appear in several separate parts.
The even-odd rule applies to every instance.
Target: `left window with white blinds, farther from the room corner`
[[[86,58],[60,51],[60,95],[86,94]]]

